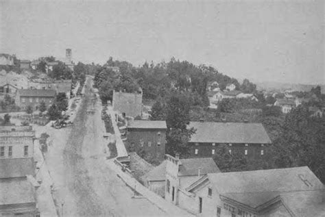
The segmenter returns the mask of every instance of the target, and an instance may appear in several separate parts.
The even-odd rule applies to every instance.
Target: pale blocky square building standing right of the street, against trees
[[[142,111],[142,92],[117,92],[113,91],[113,110],[123,114],[123,116],[130,116],[135,118],[141,116]]]

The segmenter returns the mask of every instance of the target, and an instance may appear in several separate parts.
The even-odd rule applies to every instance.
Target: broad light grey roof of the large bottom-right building
[[[253,170],[245,172],[215,173],[195,181],[193,191],[206,180],[221,197],[256,208],[281,194],[298,191],[324,190],[323,183],[307,167]]]

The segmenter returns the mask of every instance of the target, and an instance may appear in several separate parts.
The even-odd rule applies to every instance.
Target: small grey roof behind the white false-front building
[[[210,157],[180,159],[180,163],[179,175],[197,175],[199,169],[201,175],[220,173],[217,164]]]

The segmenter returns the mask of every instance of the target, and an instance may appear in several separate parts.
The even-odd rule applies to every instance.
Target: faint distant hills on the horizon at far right
[[[317,85],[313,84],[290,84],[290,83],[280,83],[275,81],[263,81],[263,82],[255,82],[257,90],[267,90],[267,91],[285,91],[287,89],[291,89],[294,91],[303,91],[308,92],[311,88],[315,88]],[[321,87],[322,94],[325,94],[325,85],[318,85]]]

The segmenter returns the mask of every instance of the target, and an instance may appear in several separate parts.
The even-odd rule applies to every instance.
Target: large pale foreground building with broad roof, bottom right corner
[[[307,166],[209,173],[185,188],[179,206],[200,216],[320,216],[323,194]]]

